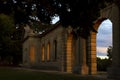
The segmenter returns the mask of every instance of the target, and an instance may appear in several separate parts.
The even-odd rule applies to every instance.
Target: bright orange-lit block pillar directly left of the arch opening
[[[89,74],[93,75],[97,73],[97,63],[96,63],[96,33],[91,32],[90,36],[90,51],[89,51]]]

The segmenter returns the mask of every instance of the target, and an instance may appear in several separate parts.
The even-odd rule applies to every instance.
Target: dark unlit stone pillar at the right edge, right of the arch
[[[112,66],[108,69],[108,78],[120,80],[120,8],[115,6],[113,9]]]

